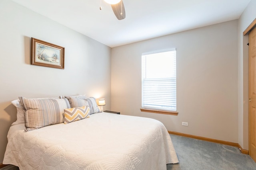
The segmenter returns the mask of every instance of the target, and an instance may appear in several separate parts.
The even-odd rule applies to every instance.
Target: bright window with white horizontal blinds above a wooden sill
[[[176,111],[176,50],[142,55],[142,108]]]

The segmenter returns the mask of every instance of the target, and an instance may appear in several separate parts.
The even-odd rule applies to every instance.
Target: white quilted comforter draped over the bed
[[[68,124],[10,127],[3,164],[20,170],[166,170],[178,158],[155,119],[96,113]]]

